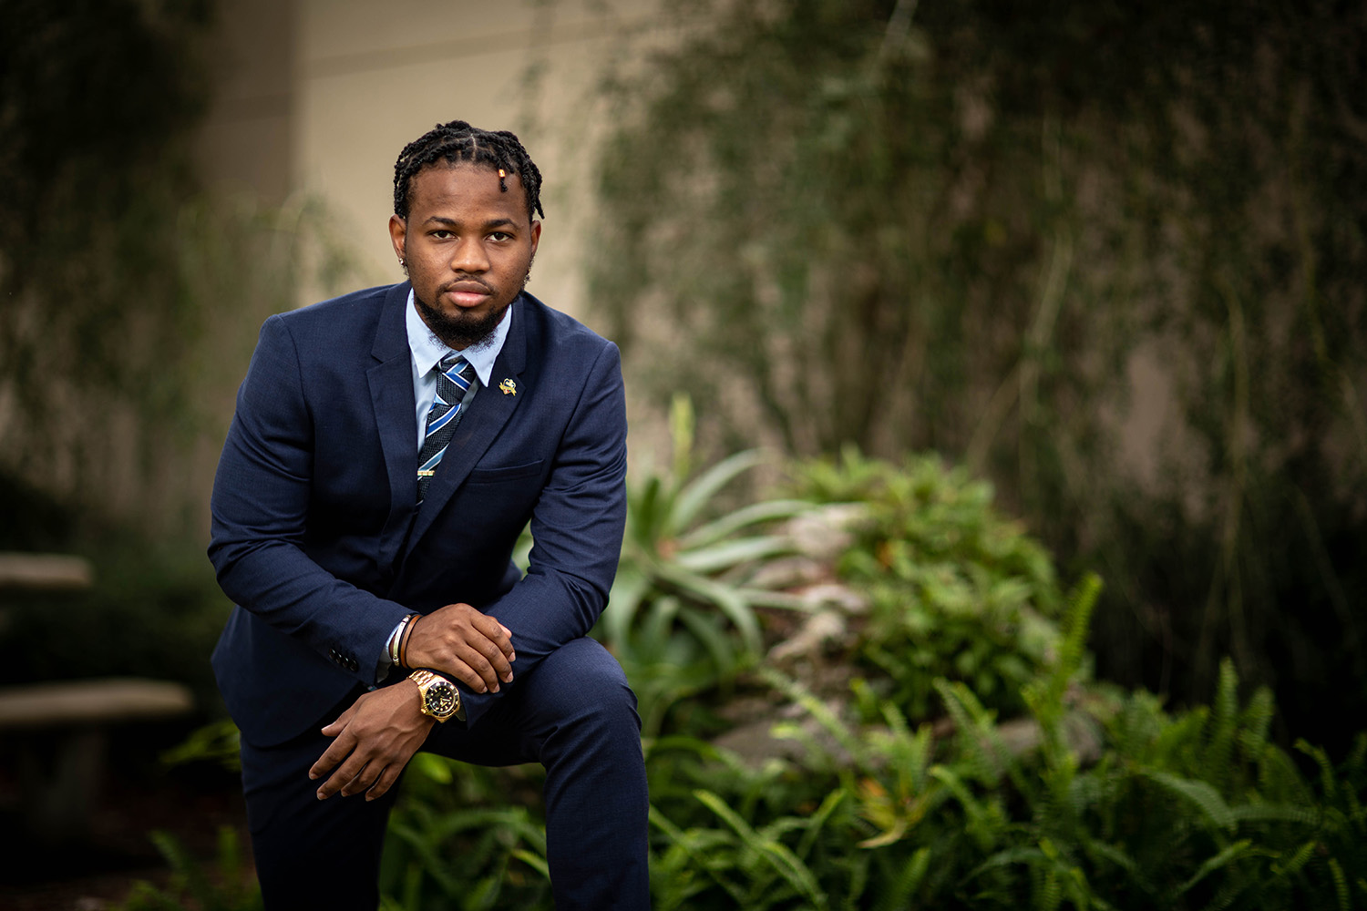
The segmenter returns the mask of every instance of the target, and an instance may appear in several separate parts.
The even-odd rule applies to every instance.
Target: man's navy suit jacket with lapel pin
[[[493,382],[417,507],[407,295],[402,283],[268,318],[238,392],[209,545],[236,606],[213,667],[257,746],[373,686],[409,611],[465,601],[498,617],[525,675],[607,601],[626,515],[617,347],[524,292]],[[510,557],[528,520],[522,576]],[[462,688],[468,724],[515,686]]]

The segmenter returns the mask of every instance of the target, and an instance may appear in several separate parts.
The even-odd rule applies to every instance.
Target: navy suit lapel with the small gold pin
[[[422,535],[432,527],[432,522],[446,507],[451,494],[469,477],[470,468],[480,460],[489,445],[498,438],[499,432],[513,417],[518,404],[526,397],[528,391],[522,384],[522,373],[526,366],[526,311],[522,309],[522,298],[513,303],[513,325],[509,336],[503,340],[503,350],[493,361],[493,370],[489,374],[491,387],[481,388],[470,410],[461,417],[461,423],[447,444],[442,464],[437,466],[432,483],[428,485],[427,497],[418,509],[413,531],[409,534],[406,550],[411,550]],[[499,385],[504,380],[513,380],[515,395],[503,392]],[[411,408],[410,408],[411,410]],[[417,473],[417,456],[414,456],[413,473]],[[417,497],[417,481],[413,482],[414,497]]]

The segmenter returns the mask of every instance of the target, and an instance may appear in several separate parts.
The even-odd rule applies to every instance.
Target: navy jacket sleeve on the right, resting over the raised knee
[[[607,604],[626,524],[626,402],[617,346],[601,343],[540,497],[532,511],[528,574],[485,608],[513,631],[514,682],[493,694],[463,694],[473,725],[517,675],[588,635]]]

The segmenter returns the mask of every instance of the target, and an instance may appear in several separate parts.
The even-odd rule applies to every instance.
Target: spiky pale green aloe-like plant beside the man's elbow
[[[763,561],[793,542],[767,526],[800,515],[800,500],[763,500],[726,511],[723,490],[761,464],[740,452],[694,474],[693,411],[677,397],[670,411],[674,456],[627,483],[626,535],[617,580],[595,635],[617,656],[636,688],[647,736],[670,706],[735,680],[761,649],[759,606],[790,598],[755,585]]]

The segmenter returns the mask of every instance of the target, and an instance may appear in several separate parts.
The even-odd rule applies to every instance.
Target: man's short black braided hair
[[[499,172],[499,188],[509,191],[506,175],[517,172],[526,191],[528,221],[545,217],[541,209],[541,172],[522,143],[507,130],[480,130],[465,120],[439,123],[403,146],[394,163],[394,214],[409,217],[409,183],[422,168],[436,161],[483,164]]]

